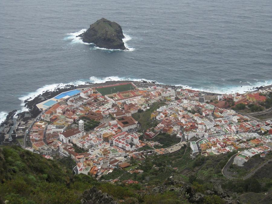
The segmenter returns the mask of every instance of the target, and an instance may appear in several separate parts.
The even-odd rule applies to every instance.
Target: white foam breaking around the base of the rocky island
[[[67,33],[67,37],[64,38],[64,40],[71,40],[71,44],[80,43],[80,44],[86,44],[86,45],[94,45],[94,43],[84,43],[83,40],[80,37],[76,37],[82,33],[86,32],[86,29],[81,29],[80,31],[74,32],[74,33]],[[131,37],[128,34],[124,34],[125,38],[123,38],[123,42],[125,44],[125,47],[128,48],[128,50],[120,50],[120,49],[107,49],[102,47],[96,47],[93,46],[90,49],[91,50],[105,50],[105,51],[134,51],[135,48],[129,47],[127,42],[131,40]]]

